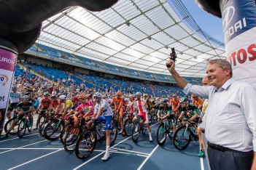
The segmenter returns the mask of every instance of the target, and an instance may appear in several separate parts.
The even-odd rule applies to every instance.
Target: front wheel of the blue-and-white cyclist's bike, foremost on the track
[[[94,148],[96,146],[96,142],[97,142],[96,137],[97,137],[96,133],[94,131],[90,131],[90,130],[84,131],[78,137],[76,147],[75,147],[75,153],[77,155],[77,158],[85,159],[91,153],[93,153],[93,150],[94,150]]]

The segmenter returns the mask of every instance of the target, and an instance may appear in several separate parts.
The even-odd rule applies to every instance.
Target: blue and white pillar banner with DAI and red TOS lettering
[[[220,1],[225,50],[236,80],[256,88],[255,0]]]

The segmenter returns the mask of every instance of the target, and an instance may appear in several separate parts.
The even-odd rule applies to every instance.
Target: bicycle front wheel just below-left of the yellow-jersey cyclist
[[[56,140],[61,136],[63,124],[58,120],[50,121],[44,129],[44,138],[50,141]]]

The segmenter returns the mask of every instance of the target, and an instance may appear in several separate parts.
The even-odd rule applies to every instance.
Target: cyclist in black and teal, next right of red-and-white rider
[[[164,113],[165,115],[161,115],[161,113]],[[160,105],[158,108],[158,123],[161,124],[164,119],[168,118],[168,120],[171,120],[171,126],[172,130],[176,131],[176,120],[174,118],[174,113],[171,109],[171,105],[168,105],[167,99],[161,99]]]

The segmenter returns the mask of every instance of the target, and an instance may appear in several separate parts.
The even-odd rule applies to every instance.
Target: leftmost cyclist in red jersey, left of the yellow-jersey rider
[[[49,99],[48,92],[44,92],[44,98],[42,98],[42,100],[40,100],[40,105],[39,105],[39,108],[41,108],[42,110],[39,112],[39,115],[38,115],[38,118],[36,121],[36,127],[34,128],[34,130],[38,129],[38,124],[40,123],[42,114],[44,114],[44,112],[46,110],[49,110],[51,102],[52,102],[52,100]]]

